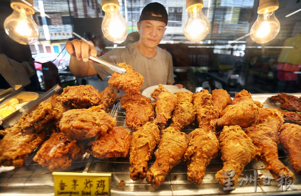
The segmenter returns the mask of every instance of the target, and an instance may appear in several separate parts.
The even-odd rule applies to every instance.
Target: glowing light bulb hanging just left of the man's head
[[[119,6],[116,4],[106,4],[103,9],[105,15],[101,29],[104,33],[104,37],[114,43],[124,40],[128,35],[128,24],[121,16]]]

